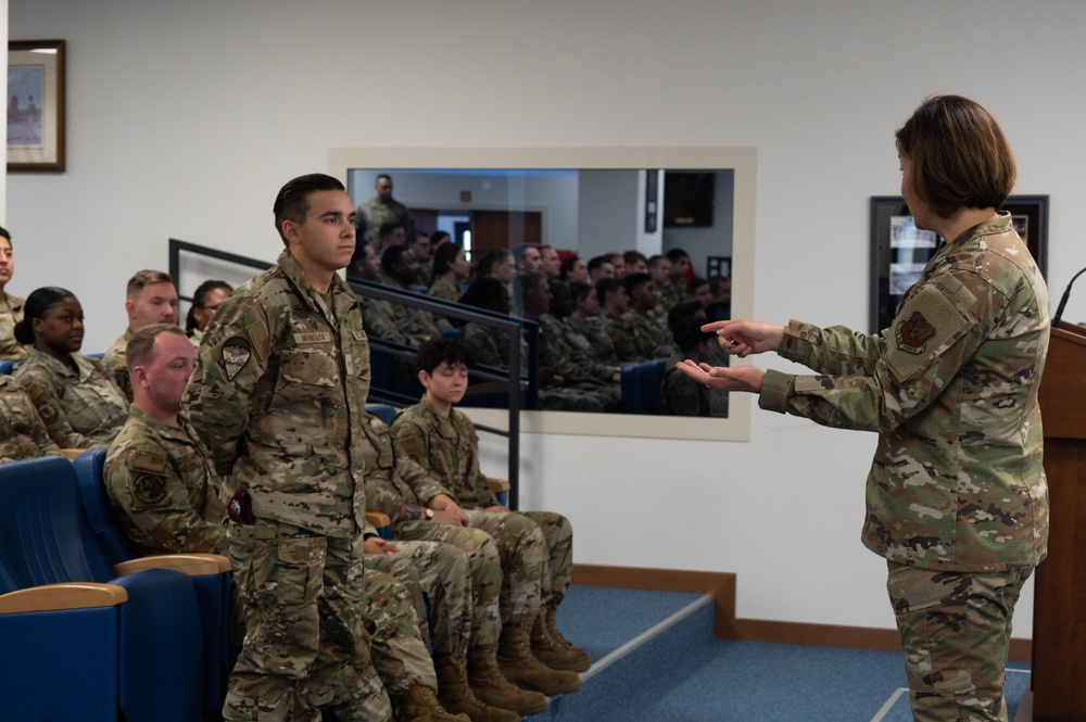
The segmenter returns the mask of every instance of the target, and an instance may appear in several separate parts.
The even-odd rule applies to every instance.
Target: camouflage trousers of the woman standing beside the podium
[[[889,563],[889,592],[917,722],[1007,722],[1003,669],[1032,568],[956,572]]]

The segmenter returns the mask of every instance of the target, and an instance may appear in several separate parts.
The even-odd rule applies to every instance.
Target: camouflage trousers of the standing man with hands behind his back
[[[229,524],[245,641],[230,674],[225,722],[391,718],[362,618],[364,571],[352,540],[257,519]]]

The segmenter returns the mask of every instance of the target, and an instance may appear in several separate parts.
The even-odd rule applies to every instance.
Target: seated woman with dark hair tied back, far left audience
[[[15,339],[29,349],[14,377],[26,389],[49,438],[61,448],[105,446],[128,418],[128,401],[101,362],[79,353],[83,306],[71,291],[37,289],[26,299]]]

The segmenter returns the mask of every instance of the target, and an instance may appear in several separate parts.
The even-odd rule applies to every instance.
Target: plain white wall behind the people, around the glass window
[[[167,237],[272,257],[281,183],[366,145],[757,147],[756,315],[863,329],[868,199],[935,91],[985,103],[1016,191],[1051,194],[1053,295],[1086,266],[1077,0],[10,5],[11,37],[68,41],[68,172],[9,178],[11,290],[75,290],[88,349]],[[523,499],[569,514],[579,561],[734,571],[742,617],[891,626],[858,541],[874,438],[757,410],[750,436],[530,436]]]

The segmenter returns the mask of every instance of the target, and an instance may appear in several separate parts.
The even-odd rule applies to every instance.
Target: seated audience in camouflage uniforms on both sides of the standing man
[[[225,521],[232,496],[193,427],[186,391],[197,347],[205,338],[214,341],[215,312],[232,289],[202,283],[182,329],[173,280],[138,271],[126,294],[125,331],[111,350],[122,359],[126,394],[113,367],[81,353],[84,312],[73,292],[46,287],[25,301],[3,292],[13,268],[5,233],[0,229],[9,240],[0,249],[7,258],[0,263],[0,329],[11,334],[2,339],[5,359],[17,363],[0,375],[0,463],[109,447],[105,492],[137,554],[229,555]],[[396,248],[406,250],[390,246]],[[376,276],[372,250],[362,249],[357,266]],[[405,254],[386,255],[400,261]],[[450,257],[456,279],[466,278],[463,250],[454,248]],[[412,268],[390,262],[386,270],[407,286]],[[495,309],[508,312],[501,281],[484,278],[477,286],[489,287]],[[533,301],[533,311],[539,307]],[[122,318],[118,313],[118,325]],[[419,378],[433,393],[404,426],[406,441],[393,443],[393,432],[376,417],[366,421],[362,440],[372,470],[365,478],[367,502],[383,504],[395,522],[389,541],[374,528],[364,534],[363,618],[372,664],[394,720],[516,722],[545,711],[547,696],[579,689],[577,672],[591,663],[555,626],[569,585],[571,527],[555,514],[521,515],[497,505],[477,456],[468,464],[449,460],[443,447],[434,451],[426,441],[428,415],[435,411],[434,422],[451,419],[466,434],[456,453],[477,454],[467,443],[470,422],[451,409],[459,398],[457,382],[443,380],[446,370],[466,377],[470,354],[457,341],[427,356],[432,342],[420,342],[420,363],[432,363]],[[418,456],[427,446],[431,453]],[[458,477],[455,469],[466,473]],[[500,546],[516,553],[500,554]],[[245,619],[237,598],[235,607],[232,642],[240,645]]]

